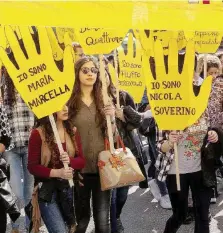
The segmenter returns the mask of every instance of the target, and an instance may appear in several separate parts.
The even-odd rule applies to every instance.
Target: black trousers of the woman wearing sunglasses
[[[95,233],[109,233],[110,226],[110,203],[111,191],[101,191],[100,178],[98,174],[84,174],[84,186],[77,187],[77,231],[85,233],[91,217],[91,195]]]

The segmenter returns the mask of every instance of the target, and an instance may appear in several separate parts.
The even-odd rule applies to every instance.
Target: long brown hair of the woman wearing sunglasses
[[[69,107],[69,118],[72,120],[77,115],[78,111],[80,110],[80,104],[81,104],[81,86],[80,86],[80,79],[79,79],[79,73],[81,70],[81,67],[87,63],[87,62],[93,62],[95,67],[98,68],[98,65],[92,57],[86,56],[78,60],[75,64],[75,84],[73,88],[73,92],[71,94],[70,100],[68,101],[68,107]],[[98,126],[102,128],[102,130],[105,130],[105,115],[103,113],[103,99],[102,99],[102,84],[100,80],[100,74],[98,72],[96,82],[93,86],[92,96],[96,105],[96,123]]]

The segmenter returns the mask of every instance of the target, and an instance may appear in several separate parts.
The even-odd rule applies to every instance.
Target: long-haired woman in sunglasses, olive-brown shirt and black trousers
[[[87,230],[91,216],[91,195],[95,232],[109,233],[111,192],[101,191],[97,163],[99,153],[104,150],[105,116],[111,116],[115,130],[115,108],[113,105],[103,105],[99,70],[92,58],[81,58],[75,64],[75,75],[76,81],[68,106],[70,119],[80,132],[86,159],[86,166],[82,169],[83,186],[77,187],[79,205],[77,233],[84,233]]]

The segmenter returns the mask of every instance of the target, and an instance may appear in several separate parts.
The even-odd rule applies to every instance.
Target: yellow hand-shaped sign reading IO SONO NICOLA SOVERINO
[[[194,124],[205,111],[211,91],[212,77],[207,77],[198,96],[193,91],[193,41],[188,41],[183,71],[178,72],[177,41],[169,43],[168,73],[165,71],[163,48],[160,41],[154,46],[156,79],[153,78],[148,56],[143,57],[147,92],[153,116],[160,129],[184,130]]]

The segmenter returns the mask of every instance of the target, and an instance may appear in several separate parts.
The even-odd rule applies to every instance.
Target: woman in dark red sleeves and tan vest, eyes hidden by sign
[[[68,107],[55,113],[54,118],[66,152],[60,156],[49,118],[39,119],[29,139],[28,169],[40,187],[38,203],[48,232],[66,233],[68,227],[69,233],[74,233],[73,192],[68,180],[73,178],[74,169],[84,167],[85,159],[79,133],[68,121]],[[69,169],[63,163],[69,164]]]

